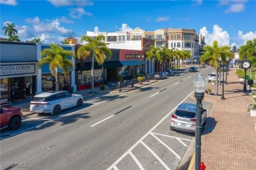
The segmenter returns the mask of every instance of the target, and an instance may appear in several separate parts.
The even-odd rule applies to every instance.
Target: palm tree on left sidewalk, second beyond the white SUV
[[[91,37],[83,35],[83,37],[81,37],[81,42],[83,41],[87,43],[78,48],[77,58],[80,59],[80,64],[83,65],[85,59],[89,58],[89,56],[93,54],[91,61],[91,88],[92,93],[94,93],[95,79],[93,72],[95,69],[95,59],[98,65],[103,64],[105,60],[105,54],[107,58],[110,59],[112,56],[112,51],[110,48],[108,48],[108,46],[106,46],[104,35],[98,35],[95,37],[95,39],[91,39]]]

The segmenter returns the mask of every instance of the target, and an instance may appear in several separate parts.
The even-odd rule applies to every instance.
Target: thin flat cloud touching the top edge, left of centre
[[[93,2],[89,0],[48,0],[48,2],[54,5],[54,7],[66,7],[73,5],[77,5],[79,7],[86,7],[93,5]]]

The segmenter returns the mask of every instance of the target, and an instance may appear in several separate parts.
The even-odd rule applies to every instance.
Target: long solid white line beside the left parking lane
[[[125,95],[125,94],[127,94],[127,93],[123,93],[122,95]],[[122,95],[118,95],[117,97],[113,97],[112,99],[116,99],[116,98],[118,98],[118,97],[120,97],[120,96],[122,96]],[[112,99],[108,99],[108,100],[106,100],[106,101],[110,101],[110,100],[112,100]],[[96,103],[95,105],[91,105],[90,107],[95,107],[96,105],[99,105],[99,104],[104,103],[104,102],[106,102],[106,101],[102,101],[102,102],[100,102],[100,103]],[[88,108],[90,108],[90,107],[86,107],[85,109],[88,109]],[[81,110],[85,110],[85,109],[81,109]],[[76,112],[80,112],[81,110],[77,110],[77,111],[75,111],[75,112],[70,112],[69,114],[64,114],[64,115],[62,115],[62,116],[60,116],[60,117],[58,117],[58,118],[55,118],[55,119],[53,119],[53,120],[49,120],[49,121],[47,121],[47,122],[44,122],[43,124],[39,124],[39,125],[30,127],[30,128],[28,128],[28,129],[24,129],[23,131],[18,131],[17,133],[12,133],[12,135],[10,135],[9,137],[12,137],[12,136],[14,136],[14,135],[18,135],[18,134],[23,133],[23,132],[25,132],[25,131],[29,131],[30,129],[34,129],[34,128],[36,128],[36,127],[43,126],[44,124],[48,124],[49,122],[54,122],[55,120],[58,120],[58,119],[60,119],[60,118],[64,118],[64,117],[66,117],[66,116],[70,116],[70,115],[72,115],[72,114],[75,114]],[[3,140],[3,139],[9,138],[9,137],[0,138],[0,141]]]

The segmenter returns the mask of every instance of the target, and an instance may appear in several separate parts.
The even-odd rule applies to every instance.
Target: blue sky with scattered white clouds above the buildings
[[[256,38],[256,1],[0,0],[1,28],[13,23],[21,41],[60,43],[86,31],[195,29],[205,42],[239,46]],[[1,37],[4,30],[1,29]]]

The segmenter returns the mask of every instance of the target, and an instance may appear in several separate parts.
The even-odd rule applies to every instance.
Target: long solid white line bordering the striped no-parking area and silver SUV
[[[140,138],[139,141],[137,141],[137,143],[133,144],[133,146],[131,146],[131,148],[129,148],[129,150],[127,150],[127,152],[125,152],[118,160],[116,160],[107,170],[112,169],[114,166],[117,165],[117,163],[119,163],[119,161],[123,160],[123,158],[125,158],[125,156],[127,156],[127,154],[131,152],[131,150],[133,150],[140,143],[140,141],[145,139],[149,133],[151,133],[154,129],[156,129],[156,127],[158,127],[161,124],[161,122],[163,122],[163,120],[165,120],[175,109],[177,109],[177,107],[181,105],[181,103],[183,103],[192,93],[194,93],[194,91],[192,91],[188,96],[186,96],[176,107],[173,108],[173,110],[171,110],[168,114],[166,114],[166,116],[164,116],[160,120],[160,122],[158,122],[154,127],[152,127],[152,129],[150,129],[148,133],[146,133],[142,138]]]

